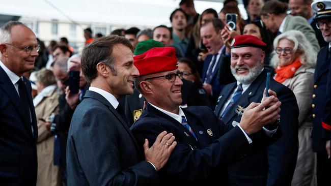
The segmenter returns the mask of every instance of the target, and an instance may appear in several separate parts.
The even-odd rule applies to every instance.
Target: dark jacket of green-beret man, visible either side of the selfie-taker
[[[209,106],[209,102],[205,95],[199,94],[197,86],[186,80],[182,79],[183,85],[181,87],[182,92],[182,105],[192,106],[192,105],[205,105]],[[137,115],[143,112],[143,106],[145,98],[140,94],[137,89],[133,89],[133,95],[125,96],[125,116],[129,125],[131,126],[136,120]],[[120,100],[122,100],[121,98]],[[119,101],[120,101],[119,100]],[[120,101],[121,102],[121,101]],[[122,102],[123,103],[123,102]],[[141,112],[140,112],[141,111]]]

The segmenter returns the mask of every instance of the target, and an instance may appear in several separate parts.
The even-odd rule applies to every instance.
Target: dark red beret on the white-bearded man
[[[252,35],[236,36],[231,43],[231,48],[240,48],[247,46],[257,47],[264,50],[267,45],[262,40]]]

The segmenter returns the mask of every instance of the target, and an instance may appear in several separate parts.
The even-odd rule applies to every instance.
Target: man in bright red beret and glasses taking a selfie
[[[260,105],[251,104],[240,124],[232,129],[217,119],[209,107],[179,107],[183,83],[182,73],[177,70],[175,48],[152,48],[144,55],[134,56],[134,65],[141,74],[134,79],[135,87],[148,104],[131,127],[132,132],[143,144],[145,138],[154,141],[159,132],[167,130],[176,136],[178,143],[159,172],[162,185],[209,185],[215,181],[227,184],[224,170],[228,165],[277,139],[277,132],[270,138],[260,131],[278,117],[277,98],[270,97]],[[271,101],[272,106],[263,111]],[[259,135],[252,135],[251,139],[251,134],[258,131]]]

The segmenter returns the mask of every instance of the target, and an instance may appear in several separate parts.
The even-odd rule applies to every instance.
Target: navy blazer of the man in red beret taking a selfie
[[[145,138],[153,144],[162,131],[176,137],[177,146],[159,171],[162,185],[211,185],[215,181],[228,185],[227,166],[253,153],[254,145],[266,146],[272,140],[264,135],[264,140],[252,139],[254,145],[249,145],[239,127],[224,125],[207,106],[191,106],[183,112],[198,140],[181,123],[150,104],[131,127],[140,145]]]

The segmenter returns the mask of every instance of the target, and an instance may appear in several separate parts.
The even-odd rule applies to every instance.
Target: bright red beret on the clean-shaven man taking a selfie
[[[157,72],[176,70],[177,57],[173,47],[156,47],[133,56],[133,65],[141,76]]]

